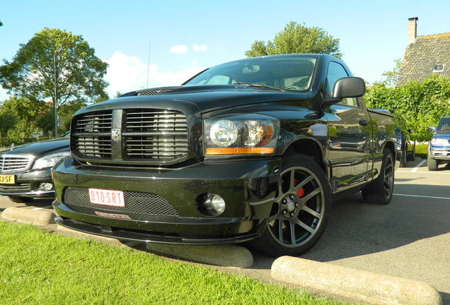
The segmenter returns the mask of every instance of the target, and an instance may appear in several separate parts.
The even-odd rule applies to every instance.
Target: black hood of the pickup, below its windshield
[[[178,87],[154,88],[153,90],[171,90],[157,95],[132,95],[115,98],[85,107],[76,114],[103,109],[129,108],[166,108],[179,109],[190,107],[196,112],[210,112],[217,109],[257,104],[306,100],[311,92],[279,91],[266,88],[255,88],[248,85],[190,85]]]

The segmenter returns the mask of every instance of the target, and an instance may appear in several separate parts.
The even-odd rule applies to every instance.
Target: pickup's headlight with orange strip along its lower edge
[[[270,154],[275,151],[279,121],[246,114],[204,120],[206,155]]]

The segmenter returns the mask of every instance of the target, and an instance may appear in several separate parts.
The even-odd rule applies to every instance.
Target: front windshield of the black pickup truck
[[[312,56],[242,59],[214,66],[185,85],[259,85],[282,90],[308,90],[316,65]]]

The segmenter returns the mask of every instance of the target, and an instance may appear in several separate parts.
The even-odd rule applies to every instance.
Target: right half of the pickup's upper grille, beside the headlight
[[[188,154],[188,121],[184,114],[142,109],[125,116],[125,153],[129,158],[170,160]]]

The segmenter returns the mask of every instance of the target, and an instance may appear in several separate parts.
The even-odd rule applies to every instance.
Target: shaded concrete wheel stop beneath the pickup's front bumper
[[[190,246],[178,244],[147,243],[150,252],[180,258],[185,261],[207,263],[228,267],[248,268],[253,265],[253,255],[243,246],[232,244],[211,246]]]

